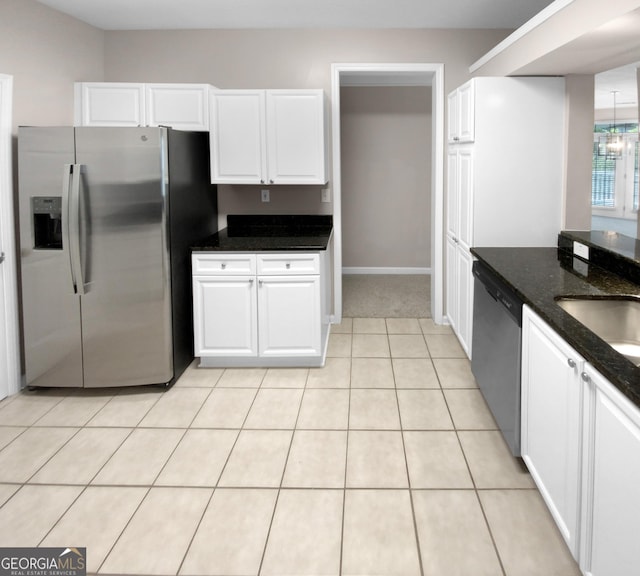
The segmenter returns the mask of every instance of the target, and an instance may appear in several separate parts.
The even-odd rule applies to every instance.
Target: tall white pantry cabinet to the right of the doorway
[[[555,246],[563,78],[474,78],[448,97],[446,313],[471,358],[473,247]]]

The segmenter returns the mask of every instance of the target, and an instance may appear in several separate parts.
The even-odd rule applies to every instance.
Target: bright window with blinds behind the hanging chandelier
[[[610,131],[610,124],[596,124],[593,134],[591,206],[596,216],[635,219],[638,212],[638,124],[616,125],[623,141],[622,155],[601,155],[599,139]]]

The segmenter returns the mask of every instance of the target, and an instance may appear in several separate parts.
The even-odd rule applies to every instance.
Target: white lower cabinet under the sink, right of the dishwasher
[[[585,576],[640,573],[640,408],[527,306],[522,455]]]

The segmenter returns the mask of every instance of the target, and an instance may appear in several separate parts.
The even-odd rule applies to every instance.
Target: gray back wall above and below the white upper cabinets
[[[323,88],[331,95],[332,63],[444,63],[445,91],[500,42],[505,30],[197,30],[110,31],[105,79],[209,82],[218,88]],[[331,184],[329,185],[331,186]],[[331,195],[333,196],[333,195]],[[220,218],[236,213],[304,210],[331,214],[318,187],[273,188],[260,202],[251,186],[219,186]]]

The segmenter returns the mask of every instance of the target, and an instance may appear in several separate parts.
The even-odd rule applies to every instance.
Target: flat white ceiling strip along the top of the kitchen
[[[39,0],[104,30],[515,29],[551,0]]]

